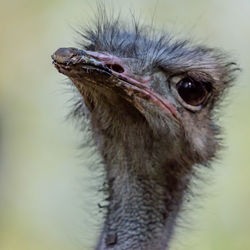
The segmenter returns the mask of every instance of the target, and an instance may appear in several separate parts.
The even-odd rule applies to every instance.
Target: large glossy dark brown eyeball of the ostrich
[[[203,83],[193,79],[182,79],[176,85],[180,97],[189,105],[198,106],[206,99],[208,91]]]

